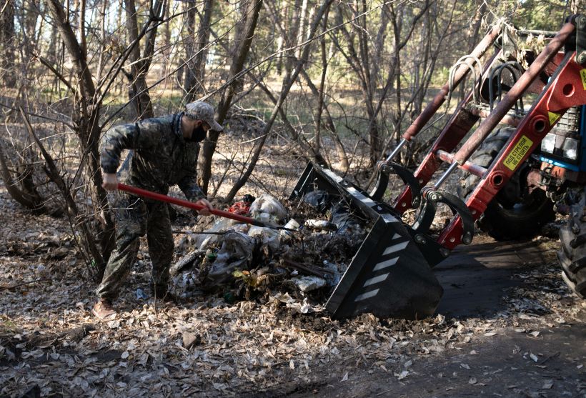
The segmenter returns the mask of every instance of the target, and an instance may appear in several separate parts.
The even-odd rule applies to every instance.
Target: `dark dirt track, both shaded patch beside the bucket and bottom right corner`
[[[550,241],[502,244],[480,239],[457,250],[436,269],[445,289],[437,312],[457,319],[502,317],[507,289],[527,285],[523,270],[539,269],[544,259],[552,259],[554,249]],[[549,288],[546,284],[545,291]],[[586,312],[572,319],[550,319],[554,312],[542,312],[521,314],[516,327],[497,327],[474,342],[411,357],[394,369],[349,361],[324,374],[322,382],[266,396],[586,397]]]

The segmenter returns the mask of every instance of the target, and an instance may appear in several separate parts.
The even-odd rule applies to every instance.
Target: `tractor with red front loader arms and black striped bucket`
[[[394,161],[463,81],[468,92],[419,167]],[[443,294],[433,267],[472,243],[475,223],[497,241],[528,239],[556,212],[568,215],[557,254],[561,277],[586,298],[585,112],[586,15],[571,16],[559,31],[500,21],[452,66],[447,83],[379,161],[373,189],[309,163],[290,199],[325,191],[372,220],[327,310],[334,318],[429,317]],[[442,189],[454,173],[458,192]],[[405,184],[392,200],[385,199],[390,174]],[[453,217],[432,233],[440,204]],[[409,209],[417,210],[412,222],[402,218]]]

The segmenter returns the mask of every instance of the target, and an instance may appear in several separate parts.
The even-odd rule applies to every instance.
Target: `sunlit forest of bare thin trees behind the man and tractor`
[[[99,280],[114,242],[98,154],[110,126],[209,101],[227,132],[212,131],[202,145],[198,179],[217,202],[245,184],[282,195],[310,159],[367,188],[375,162],[490,24],[556,31],[579,7],[0,0],[1,178],[31,212],[67,217]],[[438,114],[401,154],[407,166],[441,129]],[[289,168],[273,164],[276,151],[290,156]]]

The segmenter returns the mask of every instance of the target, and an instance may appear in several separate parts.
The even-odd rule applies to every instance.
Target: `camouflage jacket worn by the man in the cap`
[[[116,173],[122,150],[132,149],[123,182],[159,194],[167,194],[169,186],[177,184],[187,199],[204,198],[197,186],[199,144],[183,138],[182,116],[183,112],[112,127],[100,141],[101,169]]]

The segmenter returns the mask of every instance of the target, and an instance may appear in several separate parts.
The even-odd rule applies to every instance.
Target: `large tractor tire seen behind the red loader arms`
[[[495,130],[485,139],[470,161],[488,168],[515,129]],[[488,204],[484,214],[477,222],[478,227],[497,241],[530,239],[542,225],[555,219],[553,203],[542,189],[528,193],[522,184],[525,175],[521,167]],[[480,177],[466,174],[460,180],[460,198],[467,199],[480,182]]]

